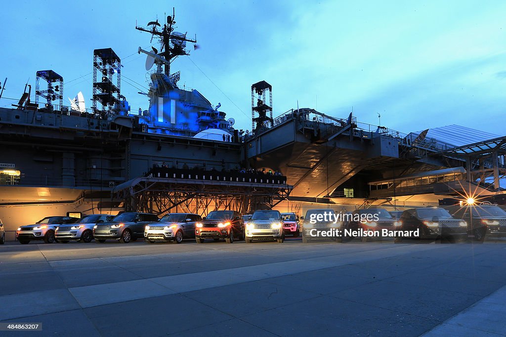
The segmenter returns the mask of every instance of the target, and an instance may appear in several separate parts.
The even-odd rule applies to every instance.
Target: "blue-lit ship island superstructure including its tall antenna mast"
[[[219,129],[230,134],[234,129],[226,114],[213,106],[198,90],[180,88],[179,71],[171,74],[171,63],[178,56],[190,54],[187,44],[196,43],[187,33],[176,31],[175,13],[166,22],[150,21],[146,27],[136,29],[151,34],[151,41],[158,41],[158,49],[142,50],[146,58],[146,79],[149,84],[149,109],[139,117],[148,132],[194,136],[207,129]]]

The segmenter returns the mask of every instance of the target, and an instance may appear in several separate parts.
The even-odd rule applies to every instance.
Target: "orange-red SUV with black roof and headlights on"
[[[241,213],[236,211],[213,211],[195,226],[195,239],[198,244],[206,238],[215,241],[225,239],[227,243],[234,242],[234,238],[244,239],[244,220]]]

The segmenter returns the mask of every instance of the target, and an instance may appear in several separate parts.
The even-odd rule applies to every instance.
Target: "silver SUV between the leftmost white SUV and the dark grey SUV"
[[[66,244],[69,240],[90,243],[93,240],[93,226],[103,222],[109,222],[114,218],[108,214],[93,214],[83,216],[79,221],[70,225],[59,225],[55,230],[58,242]]]

